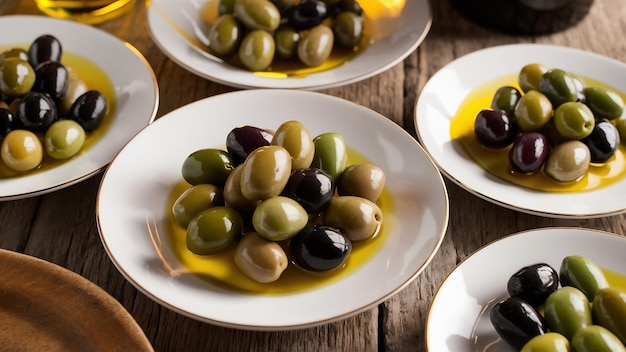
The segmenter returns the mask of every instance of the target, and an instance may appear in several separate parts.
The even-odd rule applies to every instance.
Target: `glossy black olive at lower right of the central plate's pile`
[[[350,255],[352,243],[338,229],[310,225],[289,242],[291,260],[310,271],[329,271],[340,267]]]

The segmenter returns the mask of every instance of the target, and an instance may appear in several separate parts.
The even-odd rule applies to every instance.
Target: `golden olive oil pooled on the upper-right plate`
[[[588,86],[603,86],[601,82],[583,78]],[[591,165],[587,175],[572,183],[553,181],[542,172],[533,175],[521,175],[511,171],[508,153],[510,147],[489,149],[483,147],[474,134],[474,120],[482,109],[489,108],[496,90],[502,86],[517,85],[517,75],[511,74],[492,80],[470,92],[463,100],[450,123],[450,137],[459,143],[467,154],[482,168],[518,186],[546,192],[590,191],[622,180],[626,176],[626,146],[620,144],[615,155],[602,165]],[[608,87],[615,90],[612,87]],[[617,90],[615,90],[617,91]],[[624,93],[620,95],[626,99]]]

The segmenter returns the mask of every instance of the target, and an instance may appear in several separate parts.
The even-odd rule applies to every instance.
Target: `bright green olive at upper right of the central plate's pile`
[[[313,144],[315,153],[311,167],[326,171],[336,181],[348,165],[345,140],[339,133],[326,132],[313,138]]]

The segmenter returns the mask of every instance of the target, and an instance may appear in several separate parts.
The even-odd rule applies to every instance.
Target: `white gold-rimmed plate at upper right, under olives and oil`
[[[626,180],[588,192],[539,192],[485,172],[450,138],[450,120],[476,87],[538,62],[604,82],[626,92],[626,64],[590,52],[542,44],[505,45],[463,56],[426,84],[415,109],[415,128],[440,170],[468,191],[493,203],[535,215],[601,217],[626,211]]]

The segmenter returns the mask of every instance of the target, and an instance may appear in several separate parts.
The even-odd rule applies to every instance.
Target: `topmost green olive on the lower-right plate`
[[[598,267],[582,255],[568,255],[561,261],[559,278],[562,286],[574,286],[581,290],[589,302],[598,290],[609,287],[609,283]]]

